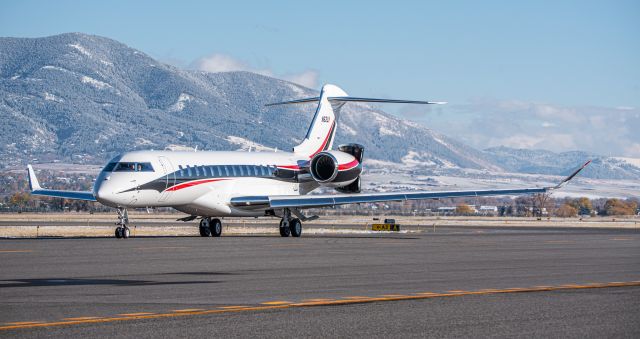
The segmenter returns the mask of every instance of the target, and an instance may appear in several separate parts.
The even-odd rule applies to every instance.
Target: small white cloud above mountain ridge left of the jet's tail
[[[300,73],[275,74],[269,68],[253,67],[248,62],[222,53],[214,53],[212,55],[202,57],[196,60],[192,65],[196,69],[205,72],[216,73],[246,71],[280,78],[305,87],[315,88],[318,86],[318,72],[314,70],[305,70]]]

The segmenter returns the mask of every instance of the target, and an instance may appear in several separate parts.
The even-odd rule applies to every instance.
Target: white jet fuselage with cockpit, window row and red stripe
[[[114,158],[96,179],[96,199],[113,207],[173,207],[200,216],[259,216],[237,196],[302,195],[319,185],[289,152],[138,151]],[[112,165],[114,164],[114,165]],[[113,168],[115,166],[115,168]]]

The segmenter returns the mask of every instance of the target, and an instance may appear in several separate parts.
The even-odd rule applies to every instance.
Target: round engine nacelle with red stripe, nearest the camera
[[[341,151],[323,151],[309,164],[311,177],[326,187],[344,187],[358,179],[362,164],[356,157]]]

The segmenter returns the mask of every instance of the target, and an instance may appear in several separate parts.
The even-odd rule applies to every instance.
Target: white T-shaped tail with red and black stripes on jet
[[[307,135],[302,143],[293,148],[293,152],[303,154],[309,158],[314,155],[330,150],[333,146],[336,130],[338,129],[338,118],[340,109],[347,102],[373,102],[373,103],[395,103],[395,104],[436,104],[442,105],[446,102],[439,101],[415,101],[415,100],[394,100],[394,99],[375,99],[375,98],[357,98],[350,97],[342,88],[326,84],[322,86],[319,97],[304,98],[291,101],[276,102],[267,104],[266,106],[287,105],[287,104],[303,104],[308,102],[318,102],[316,114],[311,120],[311,125],[307,130]]]

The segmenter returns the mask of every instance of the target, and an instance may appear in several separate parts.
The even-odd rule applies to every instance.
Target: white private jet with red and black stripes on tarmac
[[[280,235],[300,237],[308,208],[343,204],[405,201],[451,197],[478,197],[546,193],[563,187],[590,161],[556,186],[467,191],[361,192],[364,147],[359,144],[333,148],[341,108],[350,102],[445,104],[434,101],[392,100],[348,96],[326,84],[320,96],[274,105],[317,102],[313,120],[302,143],[291,152],[238,151],[135,151],[111,159],[96,178],[93,191],[61,191],[42,188],[31,165],[31,194],[97,201],[118,212],[116,238],[129,238],[130,208],[172,207],[200,218],[203,237],[219,237],[222,217],[277,217]],[[319,187],[335,194],[309,194]]]

